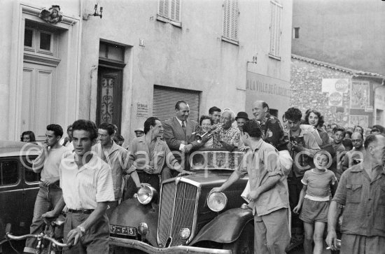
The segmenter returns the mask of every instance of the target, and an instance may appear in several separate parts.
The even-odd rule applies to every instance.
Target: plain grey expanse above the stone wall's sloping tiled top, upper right
[[[385,74],[385,1],[294,0],[292,53]]]

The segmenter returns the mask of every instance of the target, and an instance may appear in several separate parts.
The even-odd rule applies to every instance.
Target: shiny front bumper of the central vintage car
[[[231,254],[230,250],[219,250],[216,248],[200,248],[193,246],[175,246],[169,248],[157,248],[142,241],[133,239],[121,239],[117,237],[110,237],[109,244],[112,246],[119,246],[125,248],[135,248],[146,253],[216,253],[216,254]]]

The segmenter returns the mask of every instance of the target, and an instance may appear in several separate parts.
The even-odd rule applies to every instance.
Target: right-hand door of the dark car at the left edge
[[[29,226],[32,223],[34,217],[34,206],[36,196],[38,194],[38,184],[40,183],[40,173],[35,173],[32,170],[33,160],[36,156],[22,157],[22,172],[23,172],[23,202],[22,208],[25,211],[20,220],[20,227],[25,230],[26,234],[29,232]]]

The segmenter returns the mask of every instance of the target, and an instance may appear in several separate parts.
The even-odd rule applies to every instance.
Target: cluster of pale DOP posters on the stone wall
[[[349,78],[323,78],[322,92],[328,93],[329,106],[342,106],[344,92],[349,91]]]

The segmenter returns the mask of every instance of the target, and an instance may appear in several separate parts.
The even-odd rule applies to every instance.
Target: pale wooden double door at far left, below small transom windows
[[[36,140],[45,139],[45,128],[52,122],[56,68],[24,63],[22,89],[22,132],[31,130]]]

